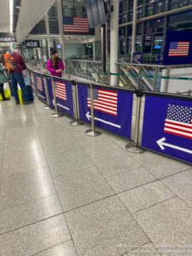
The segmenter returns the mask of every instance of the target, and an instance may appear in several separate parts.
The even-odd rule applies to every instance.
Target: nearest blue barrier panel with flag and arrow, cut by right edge
[[[143,148],[192,163],[192,101],[146,96]]]

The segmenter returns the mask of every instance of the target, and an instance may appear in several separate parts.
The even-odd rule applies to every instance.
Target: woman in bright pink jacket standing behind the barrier
[[[47,69],[51,76],[61,77],[64,65],[61,59],[58,58],[58,53],[55,49],[51,51],[51,59],[47,61]]]

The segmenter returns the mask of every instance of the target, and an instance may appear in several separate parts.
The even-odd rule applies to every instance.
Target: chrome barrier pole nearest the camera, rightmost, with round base
[[[131,153],[140,154],[145,150],[139,147],[139,127],[140,127],[140,116],[141,116],[141,106],[142,106],[142,90],[137,90],[137,113],[136,113],[136,127],[135,127],[135,138],[134,142],[127,143],[125,148]]]

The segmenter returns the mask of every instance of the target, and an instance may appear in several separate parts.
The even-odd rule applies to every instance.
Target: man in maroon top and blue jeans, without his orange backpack
[[[16,105],[20,104],[19,96],[17,92],[17,83],[19,83],[20,89],[22,90],[24,104],[27,105],[32,102],[29,101],[28,93],[26,90],[26,84],[24,81],[23,73],[22,73],[22,71],[26,69],[26,63],[23,60],[23,57],[18,53],[16,49],[13,50],[13,58],[14,58],[16,67],[14,70],[10,71],[10,75],[11,75],[11,84],[12,84],[12,88],[15,96],[15,103]]]

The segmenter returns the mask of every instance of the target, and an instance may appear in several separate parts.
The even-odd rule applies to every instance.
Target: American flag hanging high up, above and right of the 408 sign
[[[89,33],[89,21],[88,18],[82,17],[67,17],[63,18],[64,32],[73,33]]]

